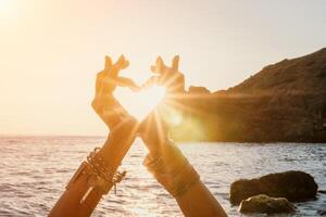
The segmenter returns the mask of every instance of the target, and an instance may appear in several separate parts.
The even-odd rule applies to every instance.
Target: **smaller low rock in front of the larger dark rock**
[[[277,214],[293,213],[296,207],[285,197],[269,197],[261,194],[241,201],[240,213]]]

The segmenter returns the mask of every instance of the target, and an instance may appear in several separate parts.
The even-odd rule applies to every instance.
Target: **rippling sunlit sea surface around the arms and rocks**
[[[0,138],[0,216],[46,216],[82,161],[104,140]],[[228,201],[229,186],[239,178],[296,169],[311,174],[319,190],[326,190],[326,144],[185,143],[179,148],[229,216],[240,216]],[[127,170],[126,178],[116,194],[105,195],[92,216],[183,216],[174,199],[142,166],[146,152],[137,140],[121,166]],[[296,206],[297,214],[289,216],[317,216],[318,209],[326,209],[326,194]]]

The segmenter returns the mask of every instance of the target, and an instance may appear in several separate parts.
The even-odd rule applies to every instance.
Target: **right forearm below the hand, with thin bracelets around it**
[[[195,168],[173,144],[160,145],[160,157],[147,156],[145,165],[174,196],[186,217],[227,216],[201,182]]]

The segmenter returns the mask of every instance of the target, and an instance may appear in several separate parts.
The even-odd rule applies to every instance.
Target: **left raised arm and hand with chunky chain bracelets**
[[[115,87],[137,88],[130,79],[117,77],[118,71],[128,62],[121,56],[112,64],[106,56],[105,68],[97,75],[96,95],[92,107],[110,129],[110,135],[101,149],[91,152],[83,162],[49,216],[89,217],[102,195],[106,194],[124,174],[117,167],[136,138],[138,123],[114,99]]]

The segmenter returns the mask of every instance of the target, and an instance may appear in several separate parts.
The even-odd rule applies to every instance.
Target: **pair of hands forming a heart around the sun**
[[[168,67],[159,56],[155,65],[151,66],[152,72],[156,75],[152,76],[143,86],[165,86],[167,93],[184,90],[184,76],[178,72],[178,61],[179,58],[175,56],[172,67]],[[123,124],[124,119],[133,119],[137,125],[136,131],[148,146],[150,153],[158,154],[161,150],[161,144],[166,142],[168,132],[168,127],[160,115],[163,106],[158,105],[145,120],[138,123],[113,95],[116,87],[128,87],[135,91],[141,89],[131,79],[120,76],[120,72],[128,67],[128,65],[129,62],[123,55],[115,63],[112,63],[110,56],[105,56],[104,69],[97,75],[96,95],[91,105],[110,130]]]

